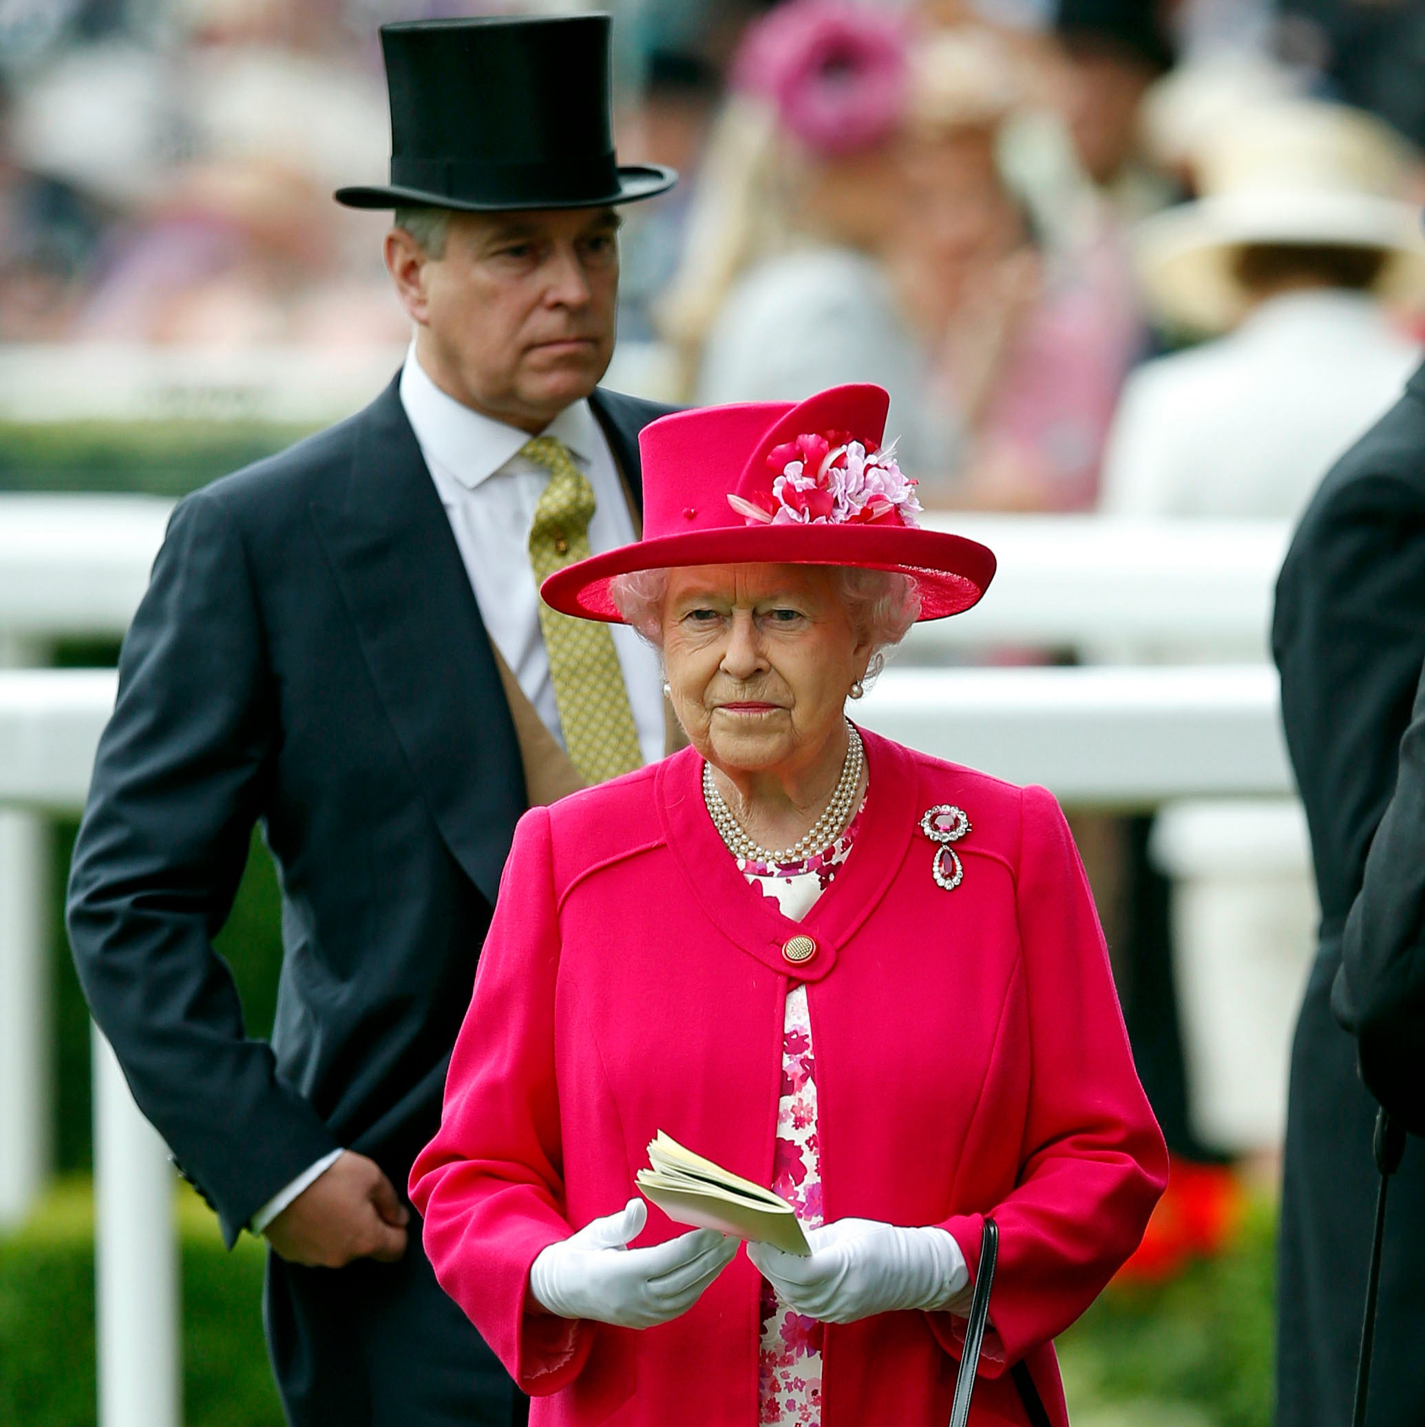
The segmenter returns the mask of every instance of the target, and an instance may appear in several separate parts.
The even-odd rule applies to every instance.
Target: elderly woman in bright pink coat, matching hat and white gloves
[[[1163,1189],[1054,799],[846,719],[994,568],[916,528],[886,408],[653,422],[643,539],[545,582],[662,648],[692,746],[521,822],[411,1174],[532,1423],[941,1427],[993,1216],[971,1421],[1066,1424],[1051,1339]],[[810,1257],[646,1207],[658,1130],[777,1190]]]

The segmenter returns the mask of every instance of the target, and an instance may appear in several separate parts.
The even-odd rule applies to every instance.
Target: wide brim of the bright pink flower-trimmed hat
[[[944,619],[979,604],[994,578],[994,554],[977,541],[904,525],[746,525],[638,541],[556,569],[539,588],[561,614],[623,624],[609,581],[642,569],[690,565],[834,565],[914,578],[920,619]]]

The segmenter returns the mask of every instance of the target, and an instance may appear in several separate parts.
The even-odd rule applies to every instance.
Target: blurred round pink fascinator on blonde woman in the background
[[[747,31],[733,83],[820,154],[873,148],[906,97],[904,21],[846,0],[790,0]]]

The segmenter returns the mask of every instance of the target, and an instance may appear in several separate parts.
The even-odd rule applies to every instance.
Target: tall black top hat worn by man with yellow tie
[[[384,24],[381,50],[391,183],[338,188],[351,208],[593,208],[678,181],[613,157],[606,14]]]

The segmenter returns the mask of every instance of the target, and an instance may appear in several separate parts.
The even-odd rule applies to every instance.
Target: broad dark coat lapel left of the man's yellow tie
[[[311,518],[441,836],[494,902],[526,806],[495,655],[397,382],[358,422],[345,497]]]

